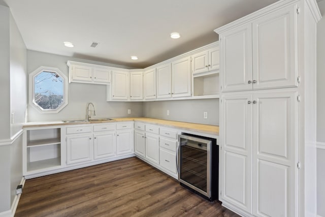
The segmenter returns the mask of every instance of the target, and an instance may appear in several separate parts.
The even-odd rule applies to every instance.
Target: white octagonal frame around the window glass
[[[52,72],[59,75],[63,80],[63,103],[56,109],[43,109],[35,102],[35,77],[42,72]],[[29,105],[34,107],[40,113],[58,113],[68,105],[68,77],[58,68],[41,66],[29,74]]]

